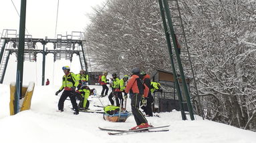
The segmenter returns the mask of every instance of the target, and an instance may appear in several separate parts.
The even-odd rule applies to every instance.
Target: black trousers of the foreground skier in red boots
[[[140,108],[140,100],[142,99],[142,94],[134,93],[131,98],[132,114],[134,116],[137,125],[141,123],[147,123],[148,120],[143,116]]]

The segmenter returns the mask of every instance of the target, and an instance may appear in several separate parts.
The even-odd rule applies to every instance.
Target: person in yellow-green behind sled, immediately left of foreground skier
[[[116,102],[116,106],[120,106],[120,104],[122,105],[121,108],[124,107],[124,98],[127,98],[127,94],[124,92],[124,89],[126,88],[126,81],[128,80],[129,76],[128,75],[124,75],[124,77],[122,79],[119,80],[117,88],[115,90],[116,95],[118,97],[118,99],[120,100],[120,102]],[[124,98],[122,96],[122,92],[124,92]],[[118,104],[120,103],[120,104]]]

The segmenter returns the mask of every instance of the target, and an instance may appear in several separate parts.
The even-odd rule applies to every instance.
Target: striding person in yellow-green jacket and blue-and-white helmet
[[[62,67],[62,70],[65,73],[62,78],[62,85],[59,90],[55,92],[55,95],[57,95],[59,92],[61,92],[61,90],[64,89],[59,98],[59,103],[57,104],[59,112],[63,112],[64,102],[68,97],[70,97],[70,101],[72,102],[72,106],[75,110],[74,114],[79,114],[78,104],[76,103],[75,96],[76,86],[79,84],[78,79],[76,78],[76,74],[70,72],[70,67]]]

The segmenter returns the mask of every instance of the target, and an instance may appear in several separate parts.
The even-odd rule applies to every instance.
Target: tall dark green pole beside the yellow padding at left
[[[19,97],[21,97],[21,93],[22,93],[26,5],[27,5],[27,0],[21,0],[21,13],[20,13],[20,19],[19,19],[19,47],[18,47],[18,57],[17,57],[17,74],[16,74],[14,114],[17,114],[19,112]]]

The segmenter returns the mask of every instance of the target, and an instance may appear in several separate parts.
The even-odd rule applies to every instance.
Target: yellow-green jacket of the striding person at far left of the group
[[[76,77],[76,74],[73,72],[68,73],[68,75],[63,75],[62,77],[62,85],[59,88],[59,90],[63,90],[63,88],[68,87],[71,88],[73,86],[78,86],[78,78]]]

